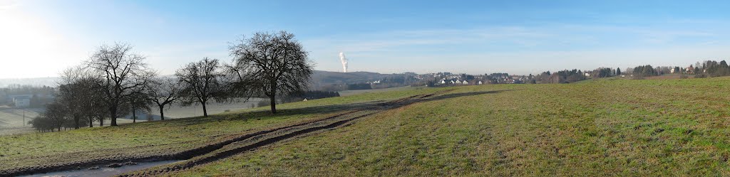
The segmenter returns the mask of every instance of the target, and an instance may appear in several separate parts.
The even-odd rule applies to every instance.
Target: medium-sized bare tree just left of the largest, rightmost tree
[[[208,117],[206,104],[215,100],[222,89],[218,59],[203,58],[198,62],[188,63],[178,69],[175,76],[183,86],[180,90],[181,104],[190,106],[200,103],[203,106],[203,117]]]

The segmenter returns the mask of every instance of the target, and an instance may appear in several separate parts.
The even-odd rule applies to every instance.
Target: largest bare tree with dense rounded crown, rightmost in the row
[[[228,93],[246,98],[266,96],[276,114],[276,96],[299,93],[307,88],[312,62],[307,52],[286,31],[258,32],[229,47],[234,62],[228,66],[234,82]]]

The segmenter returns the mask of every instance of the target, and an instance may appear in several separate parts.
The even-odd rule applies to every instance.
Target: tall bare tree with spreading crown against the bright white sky
[[[116,43],[113,46],[102,45],[87,61],[88,66],[101,78],[105,107],[111,119],[111,125],[117,125],[117,118],[126,112],[123,104],[130,98],[134,90],[144,87],[147,78],[154,75],[147,69],[145,57],[132,53],[129,44]]]

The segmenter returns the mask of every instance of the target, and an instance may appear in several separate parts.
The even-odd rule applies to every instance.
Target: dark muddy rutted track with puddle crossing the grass
[[[446,90],[447,92],[450,90]],[[441,92],[439,92],[441,93]],[[195,165],[205,164],[207,162],[213,162],[222,158],[245,152],[250,149],[255,149],[260,146],[267,144],[276,143],[288,138],[293,138],[298,135],[304,135],[312,133],[318,130],[331,129],[344,125],[347,122],[351,122],[361,117],[366,117],[372,114],[377,114],[380,111],[387,109],[393,109],[396,107],[405,106],[410,103],[415,103],[424,98],[429,98],[438,93],[429,95],[413,95],[407,98],[401,98],[395,101],[388,101],[385,103],[377,104],[377,106],[370,106],[364,109],[356,109],[346,111],[342,114],[337,114],[331,117],[325,117],[322,119],[315,119],[308,122],[301,122],[294,125],[288,125],[283,127],[276,127],[269,130],[261,130],[255,133],[245,133],[239,135],[230,135],[223,141],[216,143],[209,143],[205,146],[199,146],[197,148],[188,149],[182,152],[172,152],[168,154],[145,154],[137,156],[124,156],[116,155],[113,157],[101,157],[96,159],[81,160],[76,162],[65,162],[65,163],[50,163],[46,165],[37,165],[23,168],[12,168],[7,170],[0,170],[0,176],[20,176],[30,175],[37,173],[49,173],[63,170],[79,170],[85,168],[99,167],[105,165],[123,164],[126,162],[153,162],[162,160],[187,160],[181,164],[169,166],[162,169],[151,171],[142,171],[141,173],[132,173],[126,176],[150,176],[155,174],[163,174],[175,170],[183,170],[191,168]],[[243,146],[227,147],[232,143],[240,141],[252,141]]]

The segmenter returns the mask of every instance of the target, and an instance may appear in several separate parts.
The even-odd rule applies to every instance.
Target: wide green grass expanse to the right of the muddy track
[[[730,78],[456,88],[171,176],[730,175]]]

